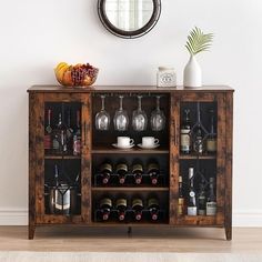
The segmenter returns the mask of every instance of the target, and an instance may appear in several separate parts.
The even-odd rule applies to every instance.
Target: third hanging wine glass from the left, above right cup
[[[142,95],[138,95],[139,104],[138,109],[133,111],[132,127],[134,131],[144,131],[148,125],[148,117],[142,110]]]

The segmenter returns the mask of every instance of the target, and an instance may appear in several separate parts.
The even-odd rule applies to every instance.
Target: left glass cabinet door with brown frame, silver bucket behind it
[[[44,94],[42,170],[37,174],[41,222],[89,219],[89,95]],[[41,157],[39,157],[41,158]]]

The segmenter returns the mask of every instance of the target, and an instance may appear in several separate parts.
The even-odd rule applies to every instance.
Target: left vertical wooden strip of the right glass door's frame
[[[179,199],[179,97],[170,97],[170,224],[177,224]]]

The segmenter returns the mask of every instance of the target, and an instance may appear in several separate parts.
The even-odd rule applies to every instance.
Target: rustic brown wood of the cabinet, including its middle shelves
[[[34,85],[29,92],[29,239],[33,239],[36,226],[47,224],[82,224],[88,226],[214,226],[224,228],[226,240],[232,239],[232,128],[233,128],[233,90],[229,87],[203,87],[201,89],[183,89],[182,87],[167,89],[151,85],[144,87],[92,87],[85,89],[61,88],[56,85]],[[144,93],[147,113],[153,109],[151,95],[163,94],[162,108],[167,114],[169,130],[162,135],[163,147],[157,150],[133,149],[125,153],[112,149],[110,145],[113,133],[99,138],[93,128],[94,115],[100,109],[97,94],[125,93],[127,95]],[[94,95],[94,97],[93,97]],[[151,98],[151,100],[150,100]],[[118,108],[117,99],[112,100],[110,114]],[[131,101],[131,100],[130,100]],[[151,101],[151,102],[150,102]],[[165,102],[167,101],[167,102]],[[81,104],[81,157],[64,159],[81,161],[81,213],[75,215],[54,215],[44,210],[44,161],[60,161],[59,155],[44,155],[44,103],[47,102],[78,102]],[[216,155],[182,155],[180,154],[180,121],[181,103],[208,102],[218,107],[218,152]],[[117,104],[115,104],[117,103]],[[134,109],[137,103],[131,101],[124,108]],[[93,111],[93,112],[92,112]],[[111,119],[112,120],[112,119]],[[132,133],[133,134],[133,133]],[[151,135],[151,133],[149,133]],[[153,133],[152,133],[153,134]],[[140,137],[137,138],[137,140]],[[108,144],[108,147],[104,147]],[[168,161],[169,183],[159,188],[150,187],[112,187],[99,188],[92,183],[92,164],[103,155],[118,158],[118,155],[158,155],[160,160]],[[216,202],[215,216],[206,215],[178,215],[179,174],[181,161],[214,161],[216,164]],[[99,223],[92,219],[93,195],[103,192],[144,192],[159,193],[161,201],[167,202],[169,213],[167,221],[160,223]]]

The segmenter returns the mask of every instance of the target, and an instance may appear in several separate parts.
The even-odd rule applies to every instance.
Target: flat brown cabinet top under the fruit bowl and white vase
[[[92,85],[88,88],[66,88],[61,85],[32,85],[28,92],[233,92],[228,85],[203,85],[201,88],[158,88],[155,85]]]

